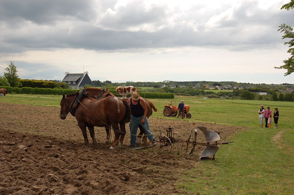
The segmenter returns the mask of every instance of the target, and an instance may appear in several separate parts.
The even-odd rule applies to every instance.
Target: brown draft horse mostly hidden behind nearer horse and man
[[[94,98],[94,99],[96,99],[101,94],[101,92],[102,92],[102,89],[100,89],[100,88],[96,88],[96,87],[86,88],[87,95]],[[105,98],[105,97],[108,97],[108,96],[114,96],[114,95],[111,94],[111,93],[108,93],[106,96],[101,96],[99,99],[102,99],[102,98]],[[124,100],[127,101],[128,99],[129,98],[124,99]],[[145,104],[146,104],[146,107],[147,107],[147,118],[149,118],[149,116],[152,115],[152,109],[157,112],[157,108],[155,107],[155,105],[151,101],[148,101],[146,99],[144,99],[144,101],[145,101]],[[126,123],[129,123],[130,120],[131,120],[131,118],[128,118]],[[137,136],[137,139],[136,139],[137,146],[146,145],[147,144],[147,137],[143,136],[143,134],[145,134],[143,126],[139,125],[139,129],[140,129],[140,133],[139,133],[139,135]],[[141,141],[142,136],[143,136],[143,140]]]

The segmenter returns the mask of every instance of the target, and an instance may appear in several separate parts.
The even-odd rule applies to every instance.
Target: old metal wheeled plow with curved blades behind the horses
[[[166,131],[166,134],[164,131]],[[163,126],[159,126],[159,135],[155,136],[155,140],[152,141],[152,150],[155,154],[170,154],[172,151],[177,154],[183,153],[183,155],[191,155],[195,149],[196,145],[205,146],[204,150],[199,155],[199,159],[208,158],[214,156],[218,151],[218,145],[221,144],[229,144],[233,141],[218,143],[220,140],[220,132],[217,131],[208,131],[206,127],[197,126],[197,128],[193,131],[190,129],[190,135],[188,139],[183,139],[181,134],[175,131],[174,127],[167,126],[163,128]],[[197,141],[198,130],[203,132],[203,135],[206,139],[206,143]]]

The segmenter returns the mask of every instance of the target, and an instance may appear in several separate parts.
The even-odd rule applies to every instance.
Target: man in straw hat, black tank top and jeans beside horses
[[[142,100],[142,101],[140,101]],[[139,124],[141,124],[145,130],[145,134],[149,140],[155,139],[149,129],[149,122],[147,119],[147,107],[145,101],[141,99],[140,94],[135,91],[131,94],[131,98],[128,99],[128,104],[131,106],[131,145],[129,147],[136,147],[136,135]]]

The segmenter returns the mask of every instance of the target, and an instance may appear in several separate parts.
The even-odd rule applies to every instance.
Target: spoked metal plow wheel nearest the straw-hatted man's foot
[[[158,135],[155,137],[156,141],[152,141],[152,150],[154,154],[170,154],[172,145],[171,140],[165,135]]]

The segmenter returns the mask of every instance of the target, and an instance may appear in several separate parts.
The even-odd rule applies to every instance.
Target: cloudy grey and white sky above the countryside
[[[294,83],[280,24],[290,0],[1,0],[0,76]]]

